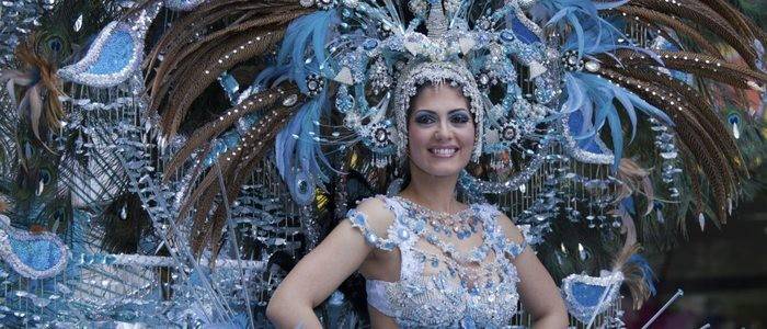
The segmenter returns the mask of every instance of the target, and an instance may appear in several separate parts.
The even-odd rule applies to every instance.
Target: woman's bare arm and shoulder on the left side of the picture
[[[386,231],[385,215],[377,200],[363,202],[357,211],[367,215],[370,228]],[[313,308],[322,303],[368,257],[373,247],[365,242],[351,222],[341,222],[328,237],[283,280],[266,307],[266,317],[277,328],[322,328]]]

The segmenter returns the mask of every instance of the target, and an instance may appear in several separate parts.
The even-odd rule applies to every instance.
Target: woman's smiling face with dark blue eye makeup
[[[427,86],[413,98],[410,109],[411,162],[431,175],[460,172],[474,146],[474,123],[463,94],[448,84]]]

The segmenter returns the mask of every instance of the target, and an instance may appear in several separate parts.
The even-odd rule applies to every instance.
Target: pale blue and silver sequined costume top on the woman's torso
[[[394,214],[387,237],[370,229],[365,214],[350,211],[352,225],[367,243],[382,250],[399,248],[397,282],[367,280],[367,302],[392,317],[401,328],[501,328],[517,311],[516,268],[511,259],[525,248],[506,238],[492,205],[472,204],[463,212],[478,223],[482,242],[459,251],[435,231],[410,201],[381,197]]]

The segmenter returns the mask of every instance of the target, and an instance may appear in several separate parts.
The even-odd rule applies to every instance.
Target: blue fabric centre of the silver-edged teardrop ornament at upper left
[[[119,72],[130,64],[135,47],[134,39],[127,31],[113,31],[106,38],[99,58],[85,72],[92,75]]]

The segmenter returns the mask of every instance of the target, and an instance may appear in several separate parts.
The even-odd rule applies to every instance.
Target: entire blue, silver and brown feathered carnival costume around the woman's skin
[[[620,327],[621,285],[636,307],[653,291],[639,242],[725,223],[765,150],[746,118],[763,111],[767,34],[724,0],[33,2],[1,12],[11,325],[261,327],[285,272],[344,218],[402,251],[401,280],[366,290],[399,325],[524,325],[511,260],[525,246],[497,230],[503,212],[573,322]],[[477,127],[453,231],[391,196],[425,83],[460,90]],[[348,209],[376,194],[387,237]],[[435,231],[483,242],[457,254]],[[364,324],[354,295],[322,320]]]

